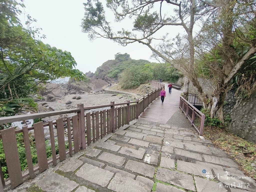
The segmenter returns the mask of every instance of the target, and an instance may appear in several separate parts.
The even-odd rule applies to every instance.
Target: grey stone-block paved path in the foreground
[[[193,128],[138,121],[36,183],[40,191],[256,191],[226,153]],[[228,180],[226,179],[228,178]],[[235,187],[236,186],[236,187]],[[28,188],[27,191],[30,189]],[[26,191],[26,190],[24,190]]]

